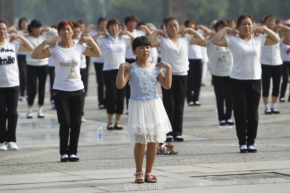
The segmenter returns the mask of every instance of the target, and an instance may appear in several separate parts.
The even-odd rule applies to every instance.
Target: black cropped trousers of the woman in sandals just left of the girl
[[[108,70],[103,72],[106,85],[107,113],[123,114],[125,88],[118,89],[116,86],[118,70]]]

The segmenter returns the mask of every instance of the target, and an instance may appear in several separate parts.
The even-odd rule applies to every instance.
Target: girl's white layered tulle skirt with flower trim
[[[128,135],[130,143],[163,142],[172,131],[161,98],[131,99],[128,105]]]

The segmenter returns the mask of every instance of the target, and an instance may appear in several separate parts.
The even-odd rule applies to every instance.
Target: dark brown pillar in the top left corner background
[[[14,24],[14,2],[13,0],[0,0],[0,19]]]

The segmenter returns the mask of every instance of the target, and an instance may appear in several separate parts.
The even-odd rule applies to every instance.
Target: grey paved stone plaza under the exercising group
[[[124,130],[106,130],[107,113],[98,109],[94,74],[89,76],[85,98],[86,122],[82,123],[79,138],[79,162],[60,162],[59,124],[49,92],[45,96],[44,119],[26,119],[27,102],[19,102],[19,150],[0,151],[0,192],[290,192],[290,102],[279,102],[281,114],[272,115],[264,114],[260,102],[255,143],[258,152],[241,154],[235,127],[216,127],[219,121],[209,73],[206,84],[201,88],[201,106],[185,105],[185,141],[172,142],[179,153],[158,155],[152,171],[158,184],[145,183],[142,187],[133,183],[134,145],[129,144],[125,127],[128,115],[121,118]],[[162,94],[160,85],[158,91]],[[37,105],[33,115],[37,116]],[[104,128],[101,145],[97,143],[98,124]],[[145,164],[144,159],[143,171]]]

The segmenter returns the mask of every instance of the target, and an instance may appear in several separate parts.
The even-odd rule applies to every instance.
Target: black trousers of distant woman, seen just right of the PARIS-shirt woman
[[[98,100],[99,100],[99,106],[106,104],[106,99],[104,97],[104,73],[103,73],[103,66],[104,63],[94,63],[95,70],[96,70],[96,77],[97,77],[97,83],[98,83]]]

